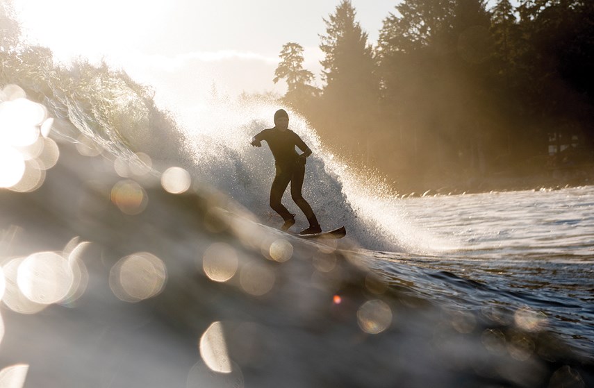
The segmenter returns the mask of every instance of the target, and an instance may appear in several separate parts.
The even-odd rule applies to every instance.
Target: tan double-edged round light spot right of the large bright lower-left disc
[[[119,260],[109,274],[113,294],[124,302],[152,298],[165,287],[167,269],[162,260],[148,252],[135,253]]]

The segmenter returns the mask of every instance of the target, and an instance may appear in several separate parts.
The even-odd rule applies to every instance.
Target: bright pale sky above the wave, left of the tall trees
[[[213,89],[231,96],[272,91],[283,44],[304,49],[320,83],[322,18],[340,0],[13,0],[28,40],[58,60],[105,58],[142,83],[163,84],[183,99]],[[377,42],[398,0],[352,0],[357,20]]]

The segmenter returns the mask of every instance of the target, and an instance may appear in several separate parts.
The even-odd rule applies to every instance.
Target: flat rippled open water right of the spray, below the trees
[[[594,354],[594,187],[395,202],[435,243],[370,253],[373,267],[396,283],[403,266],[418,268],[410,287],[443,305],[538,312],[539,324]]]

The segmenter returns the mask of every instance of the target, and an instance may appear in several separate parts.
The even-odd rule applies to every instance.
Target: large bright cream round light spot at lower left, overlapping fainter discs
[[[19,289],[30,301],[58,303],[70,292],[74,275],[68,260],[54,252],[28,256],[17,273]]]

